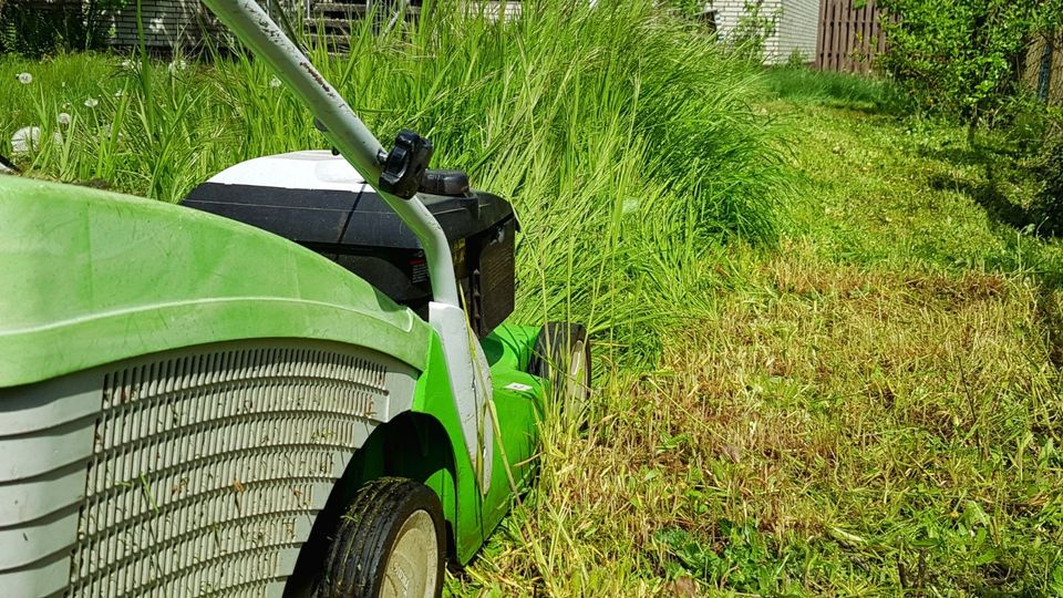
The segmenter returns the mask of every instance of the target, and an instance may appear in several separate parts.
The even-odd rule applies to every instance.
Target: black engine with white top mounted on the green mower
[[[420,197],[450,241],[473,330],[486,337],[514,308],[508,202],[472,190],[457,171],[429,171]],[[250,159],[196,187],[187,207],[239,220],[312,249],[427,319],[432,287],[413,231],[342,157],[328,151]]]

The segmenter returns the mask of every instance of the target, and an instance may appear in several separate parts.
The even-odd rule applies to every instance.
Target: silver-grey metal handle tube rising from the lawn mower
[[[261,60],[268,62],[310,112],[328,128],[326,136],[351,166],[416,235],[429,262],[433,299],[461,307],[450,243],[420,196],[402,199],[378,188],[384,148],[340,93],[310,64],[255,0],[204,0],[218,19]]]

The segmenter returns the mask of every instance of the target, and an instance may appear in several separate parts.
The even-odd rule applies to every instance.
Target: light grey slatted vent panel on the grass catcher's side
[[[35,563],[19,567],[0,548],[0,582],[34,594],[50,584],[30,577],[65,560],[63,586],[75,597],[279,596],[353,451],[410,408],[414,386],[394,360],[326,343],[218,346],[75,375],[97,380],[94,411],[63,424],[90,432],[80,465],[68,466],[83,492],[13,526],[41,536]],[[42,446],[59,437],[40,427]],[[0,474],[0,494],[47,493],[42,473]],[[0,517],[0,536],[2,526]]]

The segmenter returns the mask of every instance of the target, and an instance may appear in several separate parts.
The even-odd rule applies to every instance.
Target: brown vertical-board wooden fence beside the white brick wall
[[[866,73],[875,66],[875,56],[886,51],[886,35],[875,0],[857,9],[853,0],[819,2],[819,38],[816,68],[823,71]]]

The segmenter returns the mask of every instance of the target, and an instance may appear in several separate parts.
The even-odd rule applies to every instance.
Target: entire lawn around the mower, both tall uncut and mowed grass
[[[612,19],[326,66],[515,198],[518,317],[598,341],[589,411],[548,424],[536,488],[447,590],[1063,594],[1063,245],[1023,218],[1012,142]],[[124,60],[0,59],[0,133],[65,132],[29,175],[176,202],[321,143],[260,64]]]

